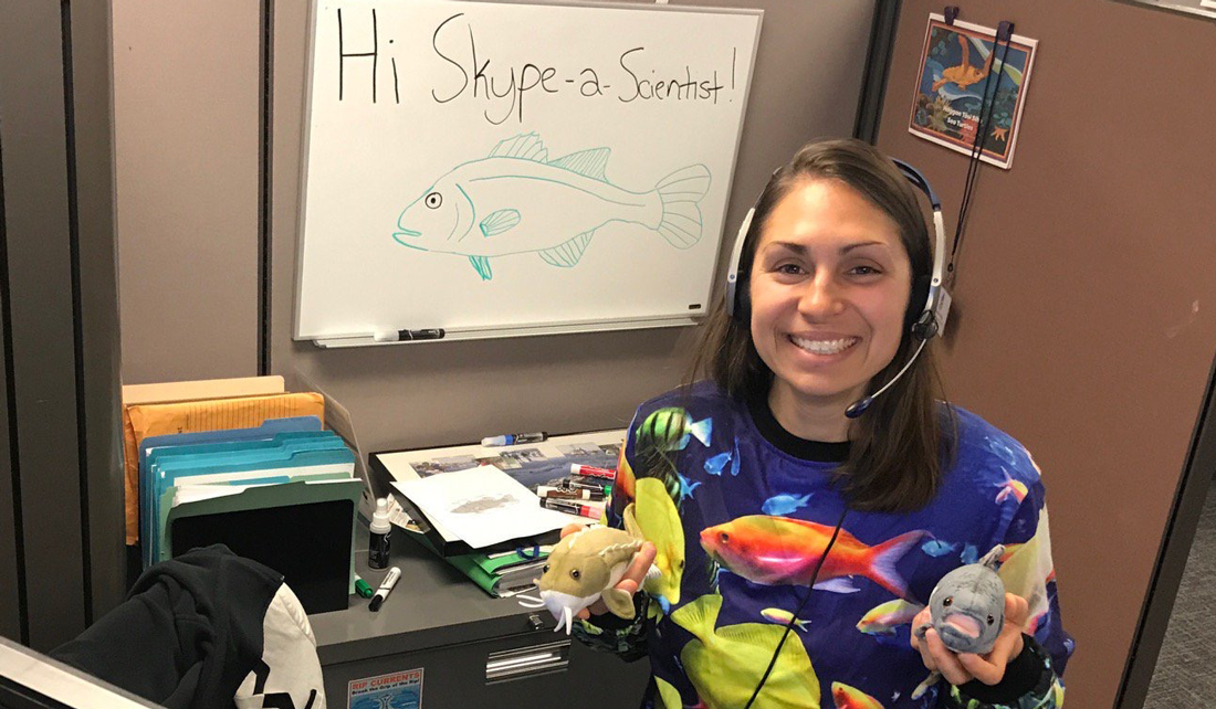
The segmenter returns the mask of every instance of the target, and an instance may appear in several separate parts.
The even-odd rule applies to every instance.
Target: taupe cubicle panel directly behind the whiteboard
[[[691,328],[339,351],[291,339],[305,5],[278,1],[272,10],[271,371],[304,371],[347,404],[368,450],[507,430],[624,426],[638,403],[677,384],[697,334]],[[852,135],[876,2],[747,5],[765,17],[724,251],[776,165],[811,137]]]

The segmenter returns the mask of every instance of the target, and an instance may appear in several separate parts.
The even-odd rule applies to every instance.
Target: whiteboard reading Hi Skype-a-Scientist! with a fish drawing
[[[704,314],[760,21],[314,0],[294,338]]]

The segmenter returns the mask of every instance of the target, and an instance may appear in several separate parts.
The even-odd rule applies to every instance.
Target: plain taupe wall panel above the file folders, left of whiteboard
[[[126,384],[258,367],[259,4],[113,4]]]

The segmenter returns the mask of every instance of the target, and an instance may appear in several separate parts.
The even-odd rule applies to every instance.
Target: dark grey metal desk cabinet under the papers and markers
[[[367,529],[359,528],[355,569],[375,588],[384,572],[367,568]],[[624,663],[595,652],[564,633],[553,633],[548,612],[536,630],[533,613],[514,599],[491,599],[462,573],[393,531],[390,566],[401,580],[378,613],[350,597],[345,611],[310,616],[325,674],[327,703],[348,705],[348,682],[389,673],[423,669],[422,709],[467,707],[546,709],[635,709],[649,675],[646,660]],[[564,643],[569,642],[568,646]],[[486,679],[491,653],[537,648],[530,654],[558,657],[556,667],[536,663],[522,674]],[[568,652],[568,664],[561,656]],[[527,665],[529,663],[520,663]]]

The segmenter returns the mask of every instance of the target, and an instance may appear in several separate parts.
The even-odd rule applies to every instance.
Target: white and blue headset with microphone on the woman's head
[[[921,356],[921,351],[924,350],[925,344],[933,338],[941,334],[942,329],[946,327],[946,317],[950,314],[950,293],[946,290],[944,284],[945,268],[946,268],[946,226],[945,220],[941,216],[941,200],[938,199],[938,193],[925,180],[924,175],[919,170],[908,165],[902,160],[891,159],[895,163],[896,169],[902,174],[913,187],[919,189],[929,198],[929,205],[933,208],[933,231],[934,231],[934,250],[933,250],[933,272],[917,274],[912,280],[912,296],[908,299],[908,311],[905,317],[905,327],[912,333],[912,336],[919,341],[916,352],[907,361],[907,364],[900,369],[899,374],[891,378],[880,390],[874,392],[866,398],[858,399],[849,404],[845,409],[845,415],[850,419],[856,419],[857,416],[866,413],[869,404],[878,398],[879,395],[885,392],[891,387],[903,373],[912,367],[917,357]],[[764,197],[765,192],[769,191],[769,186],[777,175],[781,174],[781,168],[773,171],[772,176],[769,177],[769,182],[765,183],[765,188],[760,191],[760,197],[751,204],[751,209],[748,210],[747,216],[743,217],[743,223],[739,225],[739,234],[734,239],[734,246],[731,249],[731,262],[726,270],[726,313],[736,322],[748,324],[751,321],[751,296],[748,290],[748,277],[749,273],[742,273],[739,271],[739,261],[743,256],[743,246],[747,243],[751,232],[751,219],[755,216],[756,208],[760,205],[760,199]]]

